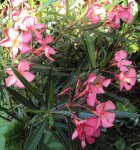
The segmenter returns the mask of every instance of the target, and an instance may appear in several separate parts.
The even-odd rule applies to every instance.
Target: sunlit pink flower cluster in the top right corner
[[[112,9],[106,10],[104,6],[112,4],[112,1],[94,1],[88,8],[87,17],[93,24],[106,20],[104,25],[111,28],[120,28],[121,20],[127,24],[131,24],[134,19],[132,3],[130,2],[128,7],[114,5]]]

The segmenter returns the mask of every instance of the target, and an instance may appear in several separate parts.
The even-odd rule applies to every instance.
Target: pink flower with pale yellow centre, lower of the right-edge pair
[[[134,68],[129,69],[128,72],[121,72],[119,74],[120,91],[123,87],[125,87],[127,91],[131,90],[136,83],[136,76],[137,74]]]

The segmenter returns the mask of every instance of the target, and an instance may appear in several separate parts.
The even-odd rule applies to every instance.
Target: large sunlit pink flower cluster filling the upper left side
[[[47,26],[39,23],[35,11],[31,9],[29,4],[24,3],[24,0],[9,0],[9,3],[10,7],[13,7],[10,16],[13,24],[4,30],[6,37],[0,41],[0,46],[10,48],[12,62],[15,59],[19,61],[17,70],[31,82],[35,75],[28,72],[29,63],[27,60],[30,60],[33,55],[42,56],[45,54],[50,61],[54,61],[51,55],[56,52],[49,46],[49,43],[53,42],[53,38],[46,34]],[[22,8],[19,7],[20,5]],[[22,55],[27,53],[29,55],[26,60],[22,60]],[[6,86],[24,87],[11,69],[8,68],[6,72],[9,74],[9,77],[6,78]]]

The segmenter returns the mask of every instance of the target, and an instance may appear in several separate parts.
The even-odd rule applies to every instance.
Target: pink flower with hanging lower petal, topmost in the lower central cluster
[[[98,103],[98,100],[96,99],[96,95],[104,94],[105,91],[103,87],[108,87],[110,82],[111,82],[111,79],[105,79],[102,76],[97,77],[93,73],[90,74],[88,80],[86,81],[87,86],[85,90],[85,93],[88,94],[86,101],[89,106],[94,106],[95,103]]]

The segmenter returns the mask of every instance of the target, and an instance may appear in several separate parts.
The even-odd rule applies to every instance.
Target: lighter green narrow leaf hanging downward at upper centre
[[[96,68],[96,56],[95,56],[95,48],[94,48],[94,40],[90,36],[88,31],[83,32],[84,42],[86,44],[88,55],[90,58],[91,66]]]

